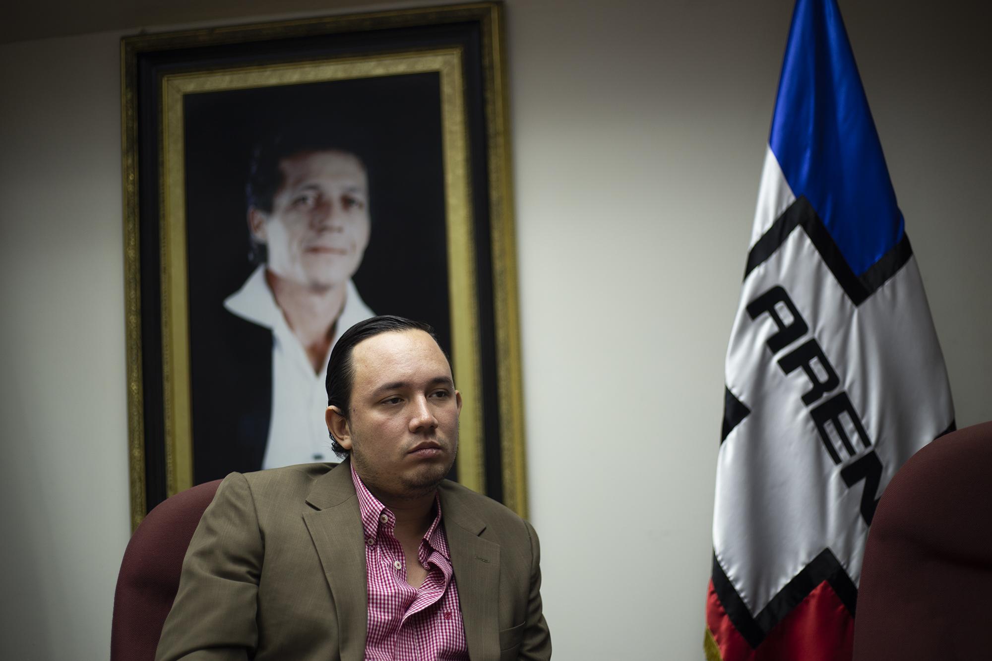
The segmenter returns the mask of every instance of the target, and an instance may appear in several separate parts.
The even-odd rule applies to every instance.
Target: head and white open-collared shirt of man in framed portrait
[[[261,263],[224,307],[272,332],[272,418],[262,467],[335,461],[312,413],[325,398],[334,339],[372,317],[351,281],[369,242],[364,165],[306,135],[273,139],[252,162],[248,225]]]

